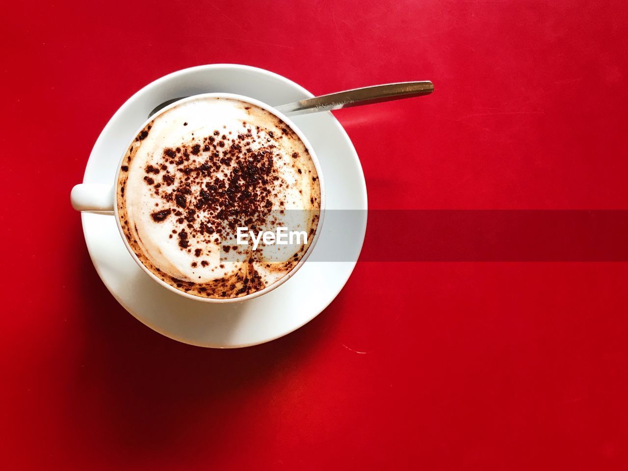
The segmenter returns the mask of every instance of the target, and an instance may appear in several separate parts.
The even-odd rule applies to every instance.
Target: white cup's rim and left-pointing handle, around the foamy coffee
[[[295,132],[298,138],[301,139],[306,149],[308,149],[308,152],[310,153],[311,161],[313,162],[317,170],[318,181],[320,185],[320,219],[318,220],[317,228],[315,230],[315,233],[313,234],[313,237],[310,240],[308,249],[306,250],[305,254],[303,254],[303,256],[301,257],[299,263],[296,264],[291,269],[290,272],[286,273],[282,278],[279,278],[274,283],[269,284],[269,286],[266,286],[266,288],[264,288],[263,290],[256,291],[246,296],[241,296],[239,298],[205,298],[202,296],[190,295],[189,293],[186,293],[185,291],[177,290],[174,286],[171,286],[170,284],[166,283],[162,279],[158,278],[158,276],[156,276],[150,269],[146,268],[146,266],[144,266],[144,264],[141,263],[138,256],[135,254],[133,249],[131,249],[131,246],[129,245],[129,242],[126,239],[126,236],[124,236],[124,232],[122,230],[122,225],[120,222],[117,205],[116,205],[115,189],[117,186],[118,176],[121,171],[122,159],[124,158],[124,155],[126,154],[127,149],[129,148],[129,146],[131,146],[131,144],[133,143],[133,140],[139,134],[139,132],[144,128],[144,126],[146,126],[149,122],[153,121],[156,117],[160,116],[161,113],[166,112],[172,107],[175,107],[183,102],[188,102],[188,101],[193,101],[193,100],[198,100],[198,99],[206,99],[206,98],[225,98],[225,99],[240,100],[241,102],[258,106],[270,112],[274,116],[278,117],[283,122],[285,122]],[[288,279],[291,278],[291,276],[293,276],[296,273],[298,269],[301,268],[301,266],[303,265],[303,263],[305,263],[308,256],[310,256],[311,251],[314,249],[314,246],[318,240],[318,236],[320,236],[320,232],[323,225],[323,217],[325,215],[325,187],[323,185],[323,173],[320,168],[320,163],[318,162],[314,149],[312,148],[308,140],[305,138],[303,133],[301,133],[300,129],[296,127],[296,125],[290,120],[290,118],[286,117],[284,114],[277,111],[276,109],[269,106],[268,104],[265,104],[264,102],[261,102],[253,98],[245,97],[242,95],[229,94],[229,93],[208,93],[208,94],[201,94],[201,95],[193,95],[191,97],[187,97],[185,99],[179,100],[169,106],[166,106],[165,108],[161,109],[159,112],[154,114],[153,116],[149,117],[149,119],[147,119],[146,122],[143,122],[143,124],[139,126],[138,129],[133,133],[133,138],[129,140],[129,144],[124,148],[124,152],[119,158],[116,175],[114,176],[111,182],[111,185],[106,185],[102,183],[81,183],[80,185],[76,185],[75,187],[72,188],[72,193],[70,194],[70,200],[72,202],[72,207],[77,211],[95,212],[95,213],[108,214],[108,215],[114,216],[116,218],[116,224],[117,224],[120,236],[122,237],[122,241],[124,241],[124,246],[126,246],[127,251],[129,251],[129,254],[131,254],[131,257],[133,257],[134,261],[136,261],[139,267],[143,269],[143,271],[146,274],[148,274],[148,276],[153,278],[154,281],[156,281],[157,283],[161,284],[168,290],[173,291],[174,293],[178,295],[185,296],[193,300],[205,301],[208,303],[234,303],[234,302],[250,300],[252,298],[256,298],[257,296],[261,296],[266,293],[269,293],[270,291],[273,291],[278,286],[281,286],[281,284],[285,283]]]

